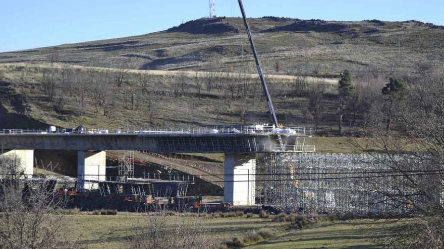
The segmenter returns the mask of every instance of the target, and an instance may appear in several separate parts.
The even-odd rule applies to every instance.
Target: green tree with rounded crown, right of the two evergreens
[[[407,84],[400,78],[391,77],[390,82],[382,88],[382,95],[385,96],[383,113],[386,116],[385,133],[390,131],[396,110],[399,104],[405,99],[407,94]]]

